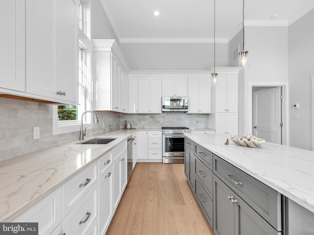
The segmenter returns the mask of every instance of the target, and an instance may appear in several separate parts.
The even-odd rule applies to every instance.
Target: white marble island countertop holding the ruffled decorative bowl
[[[270,188],[314,212],[314,152],[266,142],[260,148],[236,145],[228,135],[184,134]]]

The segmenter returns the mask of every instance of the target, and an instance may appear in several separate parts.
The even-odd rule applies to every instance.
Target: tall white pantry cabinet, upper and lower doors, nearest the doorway
[[[238,72],[239,68],[216,68],[216,86],[212,86],[212,114],[209,128],[216,134],[238,134]],[[209,70],[213,72],[213,69]]]

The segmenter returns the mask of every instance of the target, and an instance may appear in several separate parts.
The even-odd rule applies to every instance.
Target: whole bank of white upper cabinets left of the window
[[[78,103],[78,2],[6,1],[2,5],[2,96]]]

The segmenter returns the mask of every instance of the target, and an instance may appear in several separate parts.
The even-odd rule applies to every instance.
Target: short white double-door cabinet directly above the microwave
[[[162,77],[162,96],[187,96],[187,77]]]

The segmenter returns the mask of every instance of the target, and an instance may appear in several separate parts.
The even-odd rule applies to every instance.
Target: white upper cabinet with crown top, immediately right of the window
[[[129,71],[115,40],[93,40],[94,110],[128,113]]]

